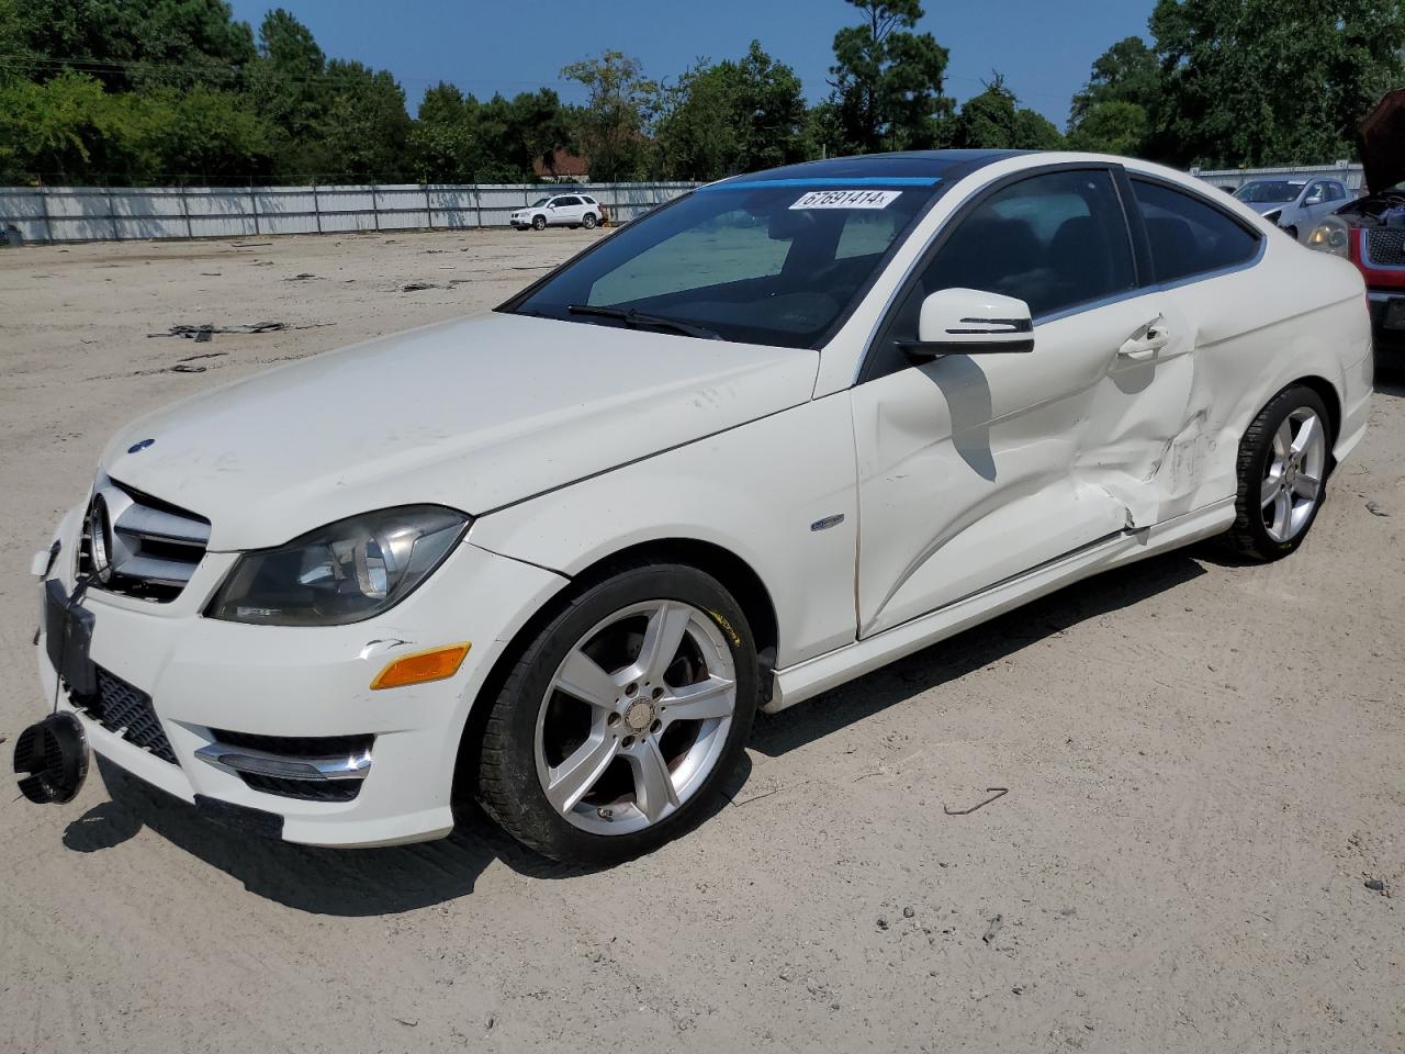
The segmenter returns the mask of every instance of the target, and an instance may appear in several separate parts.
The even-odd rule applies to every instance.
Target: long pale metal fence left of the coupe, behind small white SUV
[[[513,209],[580,190],[624,222],[695,183],[339,187],[0,187],[0,230],[25,242],[249,238],[506,226]]]

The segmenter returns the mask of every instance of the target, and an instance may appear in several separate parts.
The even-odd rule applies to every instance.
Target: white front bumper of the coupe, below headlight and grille
[[[81,510],[69,513],[59,530],[63,549],[51,578],[66,590],[80,519]],[[80,713],[93,749],[185,801],[201,795],[277,814],[288,842],[375,846],[447,835],[469,707],[507,641],[565,579],[465,541],[424,586],[377,618],[343,627],[242,625],[201,616],[233,559],[207,554],[181,596],[166,604],[87,593],[93,661],[150,696],[176,763]],[[391,659],[454,641],[472,642],[454,677],[370,689]],[[53,698],[56,673],[42,635],[37,651],[45,698]],[[73,708],[66,698],[63,705]],[[222,762],[218,729],[375,739],[368,757],[355,759],[364,762],[355,797],[322,801],[251,787],[237,765]]]

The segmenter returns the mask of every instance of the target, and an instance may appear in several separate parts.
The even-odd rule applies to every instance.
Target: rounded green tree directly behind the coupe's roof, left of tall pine
[[[714,180],[809,155],[799,77],[759,41],[740,62],[700,62],[665,90],[656,129],[662,169]]]

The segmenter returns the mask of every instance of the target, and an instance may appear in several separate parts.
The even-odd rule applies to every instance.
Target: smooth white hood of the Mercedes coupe
[[[301,360],[125,427],[103,469],[209,548],[344,516],[471,514],[806,402],[819,354],[490,313]],[[143,440],[153,440],[132,450]]]

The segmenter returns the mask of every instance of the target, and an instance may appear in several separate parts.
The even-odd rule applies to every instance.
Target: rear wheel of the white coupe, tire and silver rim
[[[1294,552],[1326,499],[1332,464],[1331,416],[1311,388],[1284,388],[1239,443],[1239,492],[1232,549],[1262,561]]]

